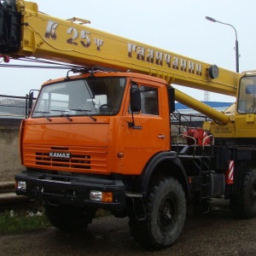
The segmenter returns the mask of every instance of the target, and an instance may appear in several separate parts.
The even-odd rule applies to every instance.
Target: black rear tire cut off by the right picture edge
[[[256,169],[249,169],[245,173],[238,192],[230,198],[232,212],[238,218],[256,217]]]

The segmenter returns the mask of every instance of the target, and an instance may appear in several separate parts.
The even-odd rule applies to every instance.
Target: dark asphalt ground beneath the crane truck
[[[0,236],[0,255],[256,255],[256,218],[235,218],[224,201],[215,202],[207,215],[189,216],[176,243],[160,251],[148,252],[133,241],[128,221],[107,216],[83,232],[49,228]]]

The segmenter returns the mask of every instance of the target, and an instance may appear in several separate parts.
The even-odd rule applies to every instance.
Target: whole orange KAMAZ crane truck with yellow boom
[[[256,215],[256,73],[233,73],[163,49],[61,20],[23,0],[0,3],[0,54],[77,65],[45,82],[20,125],[16,194],[44,201],[51,224],[81,230],[100,208],[130,218],[143,247],[162,248],[183,230],[188,208],[230,200]],[[171,84],[236,96],[225,113]],[[174,102],[212,119],[206,132],[171,141]],[[192,141],[192,143],[191,143]],[[208,143],[206,143],[208,142]]]

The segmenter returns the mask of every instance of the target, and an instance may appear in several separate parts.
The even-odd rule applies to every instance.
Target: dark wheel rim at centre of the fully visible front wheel
[[[160,230],[168,232],[172,230],[177,221],[177,203],[171,196],[167,195],[161,202],[158,209],[158,224]]]

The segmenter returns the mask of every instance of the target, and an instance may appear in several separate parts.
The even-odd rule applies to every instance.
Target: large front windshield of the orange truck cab
[[[114,115],[125,90],[124,78],[66,80],[42,88],[32,117]]]

